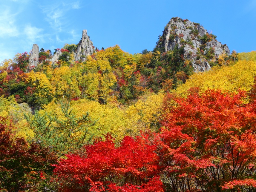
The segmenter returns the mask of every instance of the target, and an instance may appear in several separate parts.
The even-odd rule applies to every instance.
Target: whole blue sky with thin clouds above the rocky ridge
[[[0,62],[33,44],[54,51],[87,29],[95,47],[153,50],[172,17],[200,23],[230,51],[256,50],[256,0],[0,0]]]

